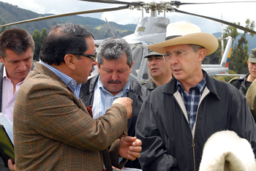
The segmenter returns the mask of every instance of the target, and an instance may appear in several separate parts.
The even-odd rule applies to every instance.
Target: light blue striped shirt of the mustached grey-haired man
[[[118,94],[116,94],[116,96],[113,96],[106,88],[104,88],[99,75],[99,78],[94,88],[94,102],[92,104],[92,115],[94,116],[94,118],[99,118],[99,116],[104,115],[108,108],[112,105],[114,100],[118,99],[118,97],[127,97],[128,91],[129,80],[127,82],[127,85],[124,86],[124,88]]]

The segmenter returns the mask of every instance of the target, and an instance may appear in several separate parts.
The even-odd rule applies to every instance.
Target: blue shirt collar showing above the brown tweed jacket
[[[66,83],[67,86],[69,86],[71,88],[71,90],[74,92],[75,96],[79,99],[80,88],[81,88],[80,84],[77,84],[77,82],[74,79],[72,79],[72,77],[65,75],[63,72],[60,72],[58,69],[54,68],[53,66],[45,64],[45,62],[43,62],[43,61],[39,61],[39,63],[48,67],[48,69],[50,69],[50,71],[52,71],[54,74],[58,75],[61,78],[61,80],[63,80],[64,83]]]

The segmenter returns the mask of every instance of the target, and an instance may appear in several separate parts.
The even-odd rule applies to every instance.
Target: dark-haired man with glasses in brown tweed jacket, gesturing
[[[112,170],[112,165],[124,166],[126,159],[118,162],[118,155],[140,157],[141,141],[122,136],[132,114],[131,99],[116,99],[97,119],[79,99],[81,84],[97,64],[93,38],[72,23],[50,28],[40,61],[15,102],[17,170]]]

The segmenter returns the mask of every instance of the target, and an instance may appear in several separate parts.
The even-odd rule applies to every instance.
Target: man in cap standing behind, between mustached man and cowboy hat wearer
[[[148,91],[153,91],[154,88],[168,83],[172,79],[170,64],[165,61],[163,54],[148,50],[148,55],[144,58],[148,58],[148,71],[151,78],[140,80],[139,83],[148,88]]]

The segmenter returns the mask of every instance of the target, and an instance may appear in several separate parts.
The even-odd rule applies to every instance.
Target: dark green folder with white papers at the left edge
[[[3,113],[0,113],[0,156],[6,167],[8,159],[15,159],[12,122]]]

